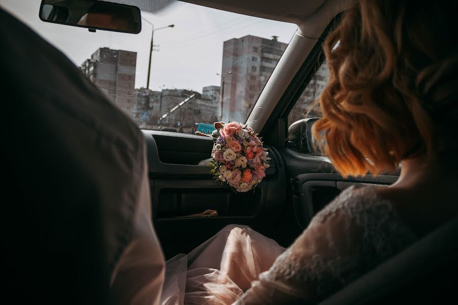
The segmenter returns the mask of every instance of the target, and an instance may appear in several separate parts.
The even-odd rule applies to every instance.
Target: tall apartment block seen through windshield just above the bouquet
[[[245,36],[223,44],[221,69],[222,120],[244,122],[287,48],[277,37]]]

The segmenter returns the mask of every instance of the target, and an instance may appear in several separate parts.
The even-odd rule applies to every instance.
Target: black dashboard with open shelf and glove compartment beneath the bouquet
[[[160,131],[144,131],[144,136],[153,224],[167,259],[189,253],[229,224],[274,236],[287,196],[284,165],[275,148],[269,147],[271,167],[254,192],[235,193],[213,180],[210,167],[201,162],[210,157],[211,138]],[[189,217],[207,209],[218,216]]]

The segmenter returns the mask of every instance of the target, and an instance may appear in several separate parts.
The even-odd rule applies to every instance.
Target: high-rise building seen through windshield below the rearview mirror
[[[132,115],[137,53],[100,48],[80,69],[122,110]]]

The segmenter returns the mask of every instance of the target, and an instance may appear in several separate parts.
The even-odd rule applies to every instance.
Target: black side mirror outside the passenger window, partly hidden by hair
[[[311,132],[313,124],[319,119],[319,117],[304,118],[291,124],[290,128],[288,128],[289,148],[307,155],[325,155]]]

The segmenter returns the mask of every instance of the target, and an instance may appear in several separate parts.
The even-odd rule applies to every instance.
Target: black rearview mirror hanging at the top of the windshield
[[[112,32],[138,34],[141,15],[137,7],[96,0],[42,0],[40,19],[45,22]]]

